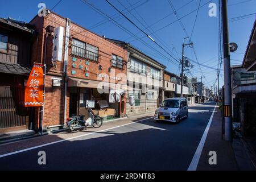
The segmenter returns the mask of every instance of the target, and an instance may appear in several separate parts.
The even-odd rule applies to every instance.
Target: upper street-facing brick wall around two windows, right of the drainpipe
[[[72,61],[72,56],[69,56],[68,59],[68,75],[74,77],[74,75],[71,75],[71,71],[75,70],[76,75],[75,77],[79,78],[85,78],[89,80],[97,80],[97,74],[99,73],[104,73],[108,76],[110,76],[109,73],[109,68],[111,67],[111,62],[110,60],[112,59],[112,54],[118,55],[123,57],[123,60],[127,61],[127,51],[123,49],[122,47],[117,46],[116,44],[109,42],[108,40],[97,36],[93,34],[92,32],[85,31],[83,28],[77,26],[74,23],[71,23],[71,35],[73,39],[80,40],[85,43],[92,44],[93,46],[98,47],[98,53],[100,55],[99,57],[99,62],[100,63],[95,63],[93,61],[90,61],[88,65],[88,71],[85,71],[86,67],[86,59],[77,59],[76,63]],[[81,32],[80,34],[77,34]],[[70,47],[69,47],[69,53],[72,52],[71,49],[71,43],[72,40],[70,41]],[[79,61],[82,60],[82,63],[80,64]],[[76,64],[76,68],[72,68],[72,64]],[[83,66],[83,69],[79,69],[79,65]],[[98,66],[102,66],[102,70],[98,70]],[[117,76],[119,73],[124,73],[126,75],[126,64],[124,65],[123,69],[114,69],[113,71],[115,73],[114,76]],[[89,73],[89,77],[85,76],[85,73]],[[120,77],[120,76],[118,76]],[[122,81],[115,81],[116,83],[123,83],[126,84],[126,78],[123,78]]]

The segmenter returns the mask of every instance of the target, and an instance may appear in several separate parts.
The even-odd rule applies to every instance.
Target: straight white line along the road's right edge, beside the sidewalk
[[[214,106],[214,109],[212,111],[212,115],[210,116],[210,119],[209,119],[209,122],[207,124],[207,127],[205,128],[204,130],[204,134],[203,134],[203,137],[201,138],[200,142],[199,142],[199,145],[197,146],[197,149],[196,149],[196,152],[193,156],[193,159],[188,167],[188,171],[196,171],[196,168],[197,168],[197,165],[199,163],[199,159],[200,159],[200,156],[201,156],[201,153],[202,153],[202,150],[204,148],[204,143],[205,143],[205,140],[207,138],[207,134],[208,134],[208,131],[209,131],[209,128],[210,128],[210,124],[212,123],[212,118],[213,118],[213,115],[215,113],[215,109],[216,109],[216,105]]]

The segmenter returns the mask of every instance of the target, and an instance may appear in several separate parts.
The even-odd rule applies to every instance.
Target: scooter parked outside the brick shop
[[[77,115],[75,117],[70,117],[67,119],[67,127],[72,133],[77,133],[78,131],[84,130],[88,126],[93,126],[94,128],[101,127],[102,119],[97,114],[94,115],[92,109],[88,109],[89,118],[84,120],[85,115]]]

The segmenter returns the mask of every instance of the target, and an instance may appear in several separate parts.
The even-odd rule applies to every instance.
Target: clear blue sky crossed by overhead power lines
[[[200,0],[190,1],[191,0],[171,0],[172,5],[177,10],[177,15],[179,15],[180,18],[197,9],[199,6]],[[52,9],[52,7],[55,6],[57,2],[59,2],[59,0],[0,0],[0,16],[2,18],[7,18],[10,16],[11,18],[17,20],[30,22],[30,20],[37,14],[38,4],[40,2],[46,3],[47,9]],[[97,9],[100,9],[102,12],[108,14],[109,16],[117,14],[117,11],[115,11],[113,7],[111,7],[105,0],[88,0],[88,2],[92,3],[95,7],[97,7]],[[168,3],[168,0],[110,0],[110,2],[112,2],[113,5],[119,10],[126,12],[125,14],[140,28],[145,29],[144,26],[153,24],[150,28],[145,29],[148,34],[159,30],[167,24],[177,20],[175,14],[173,14],[173,10],[170,4]],[[218,18],[210,17],[208,15],[208,5],[210,2],[216,3],[218,6],[217,0],[201,0],[201,5],[204,5],[205,3],[207,4],[199,9],[191,40],[195,45],[195,51],[199,63],[207,65],[211,68],[217,68]],[[236,3],[239,4],[236,5]],[[228,5],[229,18],[256,13],[256,0],[229,0]],[[130,13],[125,10],[125,7],[130,10]],[[133,9],[134,7],[136,8]],[[119,27],[115,26],[115,24],[110,21],[101,24],[101,26],[91,28],[96,23],[101,22],[105,18],[85,3],[82,3],[81,0],[63,0],[59,3],[59,5],[55,7],[55,9],[53,9],[53,11],[64,17],[70,18],[73,22],[76,22],[85,28],[90,28],[91,31],[96,32],[99,35],[105,35],[106,38],[119,39],[130,42],[133,44],[133,46],[146,52],[160,63],[164,65],[168,64],[168,71],[176,74],[179,74],[180,72],[179,66],[172,62],[174,60],[171,59],[172,61],[168,61],[170,56],[158,46],[156,46],[156,44],[154,44],[151,40],[148,38],[141,39],[143,42],[146,42],[148,45],[150,45],[150,47],[154,49],[151,49],[150,47],[145,46],[139,40],[136,40],[137,38],[141,38],[144,35],[136,27],[134,27],[133,24],[128,22],[122,16],[118,16],[115,20],[122,24],[122,26],[127,30],[135,34],[137,38],[131,37],[129,34],[127,34],[127,32],[122,31]],[[164,18],[165,16],[167,17]],[[189,36],[191,35],[195,18],[196,11],[181,19],[181,22],[183,23]],[[252,15],[249,18],[229,23],[230,42],[236,42],[238,44],[236,53],[231,53],[232,65],[242,63],[242,53],[245,53],[254,20],[255,15]],[[154,34],[151,34],[151,36],[165,49],[168,48],[168,52],[172,52],[172,55],[174,55],[177,59],[180,59],[182,49],[181,45],[183,43],[184,37],[186,37],[186,34],[183,31],[183,28],[181,28],[179,22],[172,23],[170,26],[167,26],[166,28],[157,31]],[[160,52],[160,55],[155,51],[155,49]],[[196,60],[191,48],[186,48],[185,56],[192,60]],[[213,82],[216,80],[216,71],[214,71],[214,69],[209,69],[203,66],[201,66],[200,70],[199,65],[196,63],[192,64],[195,65],[191,69],[192,76],[200,78],[202,75],[204,75],[204,84],[209,87],[213,85]],[[191,77],[191,74],[188,74],[188,76]],[[220,85],[224,84],[223,79],[223,72],[221,72]]]

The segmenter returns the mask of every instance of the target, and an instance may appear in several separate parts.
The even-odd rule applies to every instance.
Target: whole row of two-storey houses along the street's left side
[[[34,63],[46,65],[43,110],[24,107]],[[106,120],[154,111],[180,96],[181,77],[165,69],[131,44],[50,11],[30,23],[0,18],[0,133],[60,128],[88,107]],[[183,94],[189,104],[206,97],[203,83],[187,76]]]

